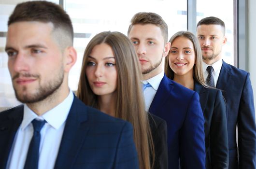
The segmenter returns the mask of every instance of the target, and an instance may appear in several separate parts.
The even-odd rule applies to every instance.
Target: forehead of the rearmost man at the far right
[[[224,28],[221,25],[199,25],[197,27],[198,35],[224,35]]]

